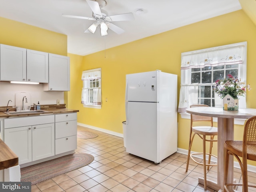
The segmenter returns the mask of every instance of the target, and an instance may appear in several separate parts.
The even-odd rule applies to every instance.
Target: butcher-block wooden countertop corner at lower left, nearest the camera
[[[0,139],[0,170],[19,164],[18,156]]]

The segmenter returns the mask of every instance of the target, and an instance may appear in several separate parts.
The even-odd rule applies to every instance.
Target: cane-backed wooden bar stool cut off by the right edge
[[[256,116],[249,118],[244,125],[244,135],[242,141],[226,141],[226,156],[224,166],[224,188],[226,191],[233,191],[233,186],[242,186],[243,192],[248,192],[248,186],[256,188],[256,186],[248,185],[247,179],[247,160],[256,161]],[[228,183],[228,160],[229,155],[233,155],[239,162],[242,171],[242,183]],[[239,157],[242,157],[242,161]]]

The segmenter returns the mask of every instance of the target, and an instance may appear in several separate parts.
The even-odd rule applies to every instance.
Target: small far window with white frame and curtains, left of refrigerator
[[[97,74],[96,77],[94,77],[94,74]],[[90,87],[91,80],[96,80],[98,82],[98,87]],[[85,70],[82,72],[82,81],[83,81],[83,88],[82,88],[82,104],[86,108],[96,108],[101,109],[102,105],[102,98],[101,98],[101,68],[91,69],[91,70]],[[93,104],[89,102],[88,98],[88,90],[97,89],[97,104]]]

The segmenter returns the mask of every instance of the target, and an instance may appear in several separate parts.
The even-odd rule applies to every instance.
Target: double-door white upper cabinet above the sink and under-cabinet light
[[[48,53],[0,45],[0,80],[48,83]]]

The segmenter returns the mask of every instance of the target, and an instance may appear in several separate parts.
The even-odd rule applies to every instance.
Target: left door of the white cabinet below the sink
[[[31,126],[4,129],[4,142],[19,157],[19,164],[32,161]]]

